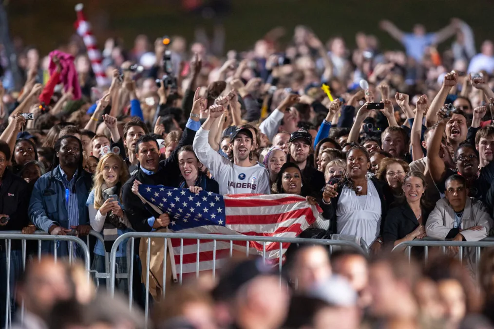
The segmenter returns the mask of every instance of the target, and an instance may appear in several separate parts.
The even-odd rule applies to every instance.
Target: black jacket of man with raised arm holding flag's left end
[[[180,183],[180,168],[178,167],[178,150],[182,146],[192,145],[196,132],[185,128],[182,138],[170,156],[160,162],[160,169],[153,175],[146,175],[139,166],[135,173],[122,187],[122,199],[125,205],[125,215],[137,232],[150,232],[148,218],[159,217],[148,205],[143,205],[137,195],[132,193],[132,185],[135,180],[148,185],[178,186]]]

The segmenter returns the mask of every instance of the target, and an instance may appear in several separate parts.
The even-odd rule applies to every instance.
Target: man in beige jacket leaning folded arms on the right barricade
[[[481,201],[467,197],[465,179],[460,175],[452,175],[445,185],[446,197],[436,203],[436,208],[427,220],[427,236],[453,241],[479,241],[487,237],[493,219]]]

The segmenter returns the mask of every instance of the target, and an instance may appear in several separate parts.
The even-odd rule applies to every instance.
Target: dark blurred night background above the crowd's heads
[[[226,30],[226,49],[244,50],[276,26],[287,29],[289,41],[298,24],[311,27],[323,41],[342,36],[350,47],[355,34],[375,34],[381,48],[399,48],[378,28],[381,19],[393,21],[403,31],[414,23],[422,23],[428,31],[436,31],[452,17],[467,22],[475,33],[476,47],[492,38],[493,0],[8,0],[11,37],[19,36],[25,45],[37,46],[42,54],[66,43],[75,33],[74,5],[84,3],[84,11],[93,25],[100,48],[107,37],[123,37],[125,46],[133,46],[134,37],[146,34],[153,40],[167,35],[182,35],[192,41],[194,30],[222,22]],[[218,5],[217,2],[225,2]],[[212,3],[224,12],[213,19],[204,19],[186,4]]]

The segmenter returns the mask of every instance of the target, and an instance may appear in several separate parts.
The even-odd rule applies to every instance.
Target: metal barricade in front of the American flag
[[[157,232],[152,232],[152,233],[141,233],[141,232],[129,232],[121,235],[120,237],[115,240],[111,253],[110,253],[110,291],[112,296],[115,293],[115,280],[116,280],[116,260],[117,260],[117,249],[119,245],[124,242],[124,240],[129,239],[130,243],[127,243],[127,246],[129,248],[127,250],[130,250],[130,257],[127,254],[127,259],[130,259],[130,266],[127,264],[127,268],[129,276],[128,276],[128,285],[129,285],[129,307],[132,308],[132,279],[133,279],[133,269],[134,269],[134,257],[133,257],[133,251],[134,251],[134,244],[135,244],[135,238],[147,238],[147,252],[146,252],[146,268],[143,268],[142,270],[146,271],[146,273],[149,273],[149,267],[150,267],[150,248],[151,248],[151,239],[152,238],[158,238],[158,239],[164,239],[164,253],[163,253],[163,292],[162,292],[162,298],[165,297],[165,292],[166,292],[166,257],[167,257],[167,252],[168,252],[168,247],[171,248],[171,246],[168,246],[168,239],[180,239],[180,262],[178,264],[179,266],[179,273],[178,273],[178,278],[179,278],[179,283],[182,283],[182,276],[183,276],[183,271],[182,271],[182,265],[183,265],[183,240],[184,239],[195,239],[197,240],[197,252],[196,252],[196,277],[199,276],[199,254],[200,254],[200,243],[201,240],[212,240],[213,242],[213,259],[212,259],[212,275],[213,277],[215,276],[216,273],[216,242],[217,241],[229,241],[230,242],[230,257],[232,256],[233,253],[233,241],[245,241],[246,242],[246,254],[248,256],[249,253],[249,242],[258,242],[262,243],[263,245],[263,251],[262,251],[262,257],[263,259],[266,259],[266,243],[268,242],[275,242],[279,243],[279,255],[281,257],[282,255],[282,249],[283,249],[283,243],[303,243],[303,244],[313,244],[313,245],[328,245],[330,246],[339,246],[339,247],[349,247],[352,248],[360,253],[362,253],[364,256],[368,256],[368,250],[367,246],[365,245],[364,248],[359,246],[357,243],[352,242],[352,241],[344,241],[344,240],[329,240],[329,239],[303,239],[303,238],[277,238],[277,237],[259,237],[259,236],[246,236],[246,235],[215,235],[215,234],[187,234],[187,233],[157,233]],[[331,250],[330,250],[331,252]],[[282,271],[282,266],[283,266],[283,261],[281,259],[278,259],[278,268],[279,272],[281,273]],[[145,316],[146,316],[146,326],[147,326],[147,319],[149,315],[149,274],[146,275],[146,294],[145,294]]]

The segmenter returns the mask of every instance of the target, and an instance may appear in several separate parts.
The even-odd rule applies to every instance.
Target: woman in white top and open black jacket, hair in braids
[[[387,183],[367,175],[371,161],[363,146],[353,146],[347,154],[343,176],[326,184],[323,202],[331,205],[333,233],[360,236],[376,252],[383,242],[382,228],[393,194]]]

